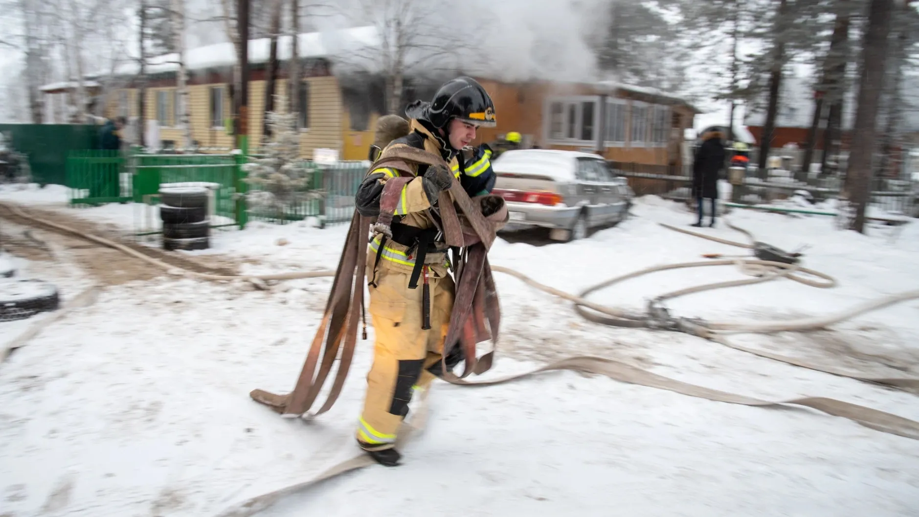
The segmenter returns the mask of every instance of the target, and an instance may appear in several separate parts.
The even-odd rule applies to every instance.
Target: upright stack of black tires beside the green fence
[[[206,250],[210,247],[208,189],[170,186],[160,189],[163,249]]]

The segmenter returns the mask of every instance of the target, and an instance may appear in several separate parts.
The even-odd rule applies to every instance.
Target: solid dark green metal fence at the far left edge
[[[0,124],[12,137],[13,148],[28,155],[32,181],[68,185],[66,162],[71,152],[96,149],[98,127],[91,124]]]

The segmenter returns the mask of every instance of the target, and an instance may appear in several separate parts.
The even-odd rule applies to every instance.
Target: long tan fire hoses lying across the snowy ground
[[[28,219],[36,223],[40,223],[46,227],[49,227],[54,230],[61,231],[63,233],[71,234],[81,239],[85,239],[91,242],[96,242],[103,246],[107,246],[112,249],[119,250],[122,253],[127,253],[130,256],[133,256],[139,260],[142,260],[148,264],[153,264],[157,267],[164,269],[166,272],[172,275],[182,275],[192,278],[199,278],[202,280],[211,280],[211,281],[231,281],[231,280],[248,280],[255,282],[264,282],[272,280],[292,280],[300,278],[316,278],[322,276],[334,276],[335,271],[312,271],[312,272],[290,272],[290,273],[281,273],[281,274],[272,274],[272,275],[211,275],[207,273],[198,273],[194,271],[188,271],[186,269],[178,268],[171,264],[166,264],[163,261],[157,260],[153,257],[150,257],[144,253],[140,253],[136,250],[131,249],[128,246],[120,244],[118,242],[112,242],[107,239],[98,237],[96,235],[88,234],[81,232],[79,230],[74,230],[62,224],[47,220],[40,219],[24,212],[22,209],[15,206],[8,205],[6,203],[0,203],[0,207],[6,208],[9,212],[15,214],[19,218]],[[714,242],[720,242],[728,245],[734,245],[737,247],[745,249],[757,248],[757,244],[760,243],[743,243],[743,242],[732,242],[717,237],[705,235],[702,233],[697,233],[690,230],[678,229],[668,225],[663,225],[664,227],[681,231],[696,237],[708,239]],[[753,235],[748,231],[732,227],[734,230],[741,231],[751,241],[753,241]],[[793,261],[791,261],[793,262]],[[641,275],[648,275],[651,273],[673,270],[679,268],[688,268],[688,267],[702,267],[702,266],[717,266],[717,265],[735,265],[741,268],[743,273],[748,275],[755,275],[754,278],[735,280],[730,282],[720,282],[715,284],[709,284],[705,286],[698,287],[689,287],[686,289],[680,289],[671,293],[660,295],[656,298],[653,298],[649,304],[648,308],[644,314],[635,314],[629,313],[622,309],[610,308],[601,304],[597,304],[590,300],[585,299],[586,296],[590,295],[597,290],[614,286],[623,281],[635,278]],[[493,266],[492,269],[495,272],[503,273],[506,275],[512,275],[517,279],[523,281],[530,287],[539,289],[540,291],[546,292],[550,295],[563,298],[573,302],[575,310],[584,317],[586,320],[590,320],[596,323],[611,325],[617,327],[627,327],[627,328],[645,328],[652,330],[668,330],[675,332],[686,332],[689,334],[697,335],[699,337],[709,339],[712,342],[724,344],[735,350],[743,351],[749,354],[755,354],[761,357],[768,359],[780,361],[789,365],[796,365],[804,368],[808,368],[815,371],[820,371],[835,376],[849,377],[861,381],[871,382],[882,384],[886,386],[891,386],[894,388],[901,388],[906,391],[911,391],[913,393],[919,392],[919,379],[917,378],[876,378],[876,377],[864,377],[857,376],[853,374],[848,374],[843,371],[835,370],[833,368],[812,365],[809,362],[787,357],[780,354],[772,354],[761,350],[749,349],[740,345],[732,344],[727,341],[726,335],[731,332],[752,332],[752,333],[773,333],[773,332],[806,332],[824,329],[834,323],[838,323],[843,320],[848,320],[854,318],[860,314],[864,314],[871,310],[882,309],[884,307],[891,306],[893,304],[901,303],[903,301],[908,301],[912,299],[919,298],[919,289],[906,291],[898,294],[894,294],[885,298],[879,298],[874,301],[869,301],[850,309],[844,311],[829,314],[818,317],[804,318],[799,320],[776,320],[776,321],[705,321],[692,318],[681,318],[675,317],[669,313],[667,309],[664,308],[663,302],[667,299],[672,299],[680,296],[686,296],[692,293],[698,293],[701,291],[712,290],[717,288],[726,288],[726,287],[740,287],[746,285],[752,285],[757,283],[762,283],[770,280],[775,280],[777,278],[788,278],[792,281],[800,282],[802,284],[811,286],[811,287],[820,287],[828,288],[834,287],[836,285],[834,278],[829,275],[822,274],[820,272],[801,267],[798,264],[789,264],[789,262],[779,262],[777,260],[760,260],[760,259],[751,259],[751,258],[736,258],[736,259],[723,259],[723,260],[711,260],[707,262],[691,262],[683,264],[664,264],[660,266],[650,267],[641,271],[633,272],[628,275],[620,275],[616,278],[607,280],[601,284],[598,284],[593,287],[585,289],[580,295],[575,296],[570,293],[564,292],[562,290],[548,287],[539,282],[529,278],[527,275],[523,275],[515,270],[501,267]],[[813,278],[809,278],[804,275],[810,275]],[[908,438],[919,439],[919,422],[911,421],[904,419],[902,417],[893,415],[879,410],[872,410],[870,408],[859,406],[857,404],[851,404],[842,400],[836,399],[827,399],[820,397],[805,397],[799,399],[788,399],[781,401],[767,401],[762,399],[754,399],[751,397],[745,397],[742,395],[737,395],[733,393],[723,392],[719,390],[703,388],[695,386],[692,384],[687,384],[669,377],[660,376],[652,372],[642,370],[635,366],[627,365],[625,363],[620,363],[618,361],[605,359],[601,357],[591,357],[591,356],[578,356],[578,357],[569,357],[557,361],[550,365],[544,365],[534,371],[530,371],[520,375],[514,375],[509,377],[501,377],[493,380],[484,380],[484,381],[455,381],[453,384],[461,386],[492,386],[499,383],[510,382],[516,379],[530,377],[541,372],[547,372],[552,370],[573,370],[584,372],[588,374],[600,374],[615,380],[637,384],[641,386],[651,387],[651,388],[661,388],[669,391],[674,391],[677,393],[682,393],[691,397],[697,397],[702,399],[716,400],[733,404],[743,404],[748,406],[780,406],[788,407],[789,405],[794,406],[804,406],[814,410],[820,410],[822,412],[847,418],[852,421],[857,421],[858,423],[869,427],[871,429],[876,429],[884,433],[893,433],[901,435]],[[418,431],[424,427],[424,415],[425,409],[424,404],[417,410],[414,410],[414,419],[411,421],[406,421],[403,423],[405,427],[405,433],[399,433],[400,441],[403,442],[407,440],[409,436],[412,435],[412,431]],[[375,463],[372,458],[368,455],[360,454],[355,458],[338,464],[326,470],[319,476],[309,478],[304,480],[301,483],[285,487],[283,489],[278,489],[266,494],[256,496],[249,500],[244,500],[236,505],[233,505],[232,508],[227,511],[221,512],[222,517],[241,517],[253,515],[259,511],[266,509],[268,506],[273,505],[281,498],[294,493],[299,492],[303,489],[308,489],[315,486],[320,481],[332,478],[338,474],[359,468],[361,466],[369,466]]]

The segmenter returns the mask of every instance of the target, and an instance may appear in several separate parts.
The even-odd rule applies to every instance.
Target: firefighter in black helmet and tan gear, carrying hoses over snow
[[[394,145],[409,145],[441,156],[448,168],[415,163],[414,178],[403,187],[392,219],[392,237],[377,233],[369,245],[369,313],[376,343],[357,443],[384,466],[399,465],[396,433],[413,391],[427,388],[442,374],[441,353],[455,292],[448,273],[448,246],[431,219],[436,217],[432,214],[437,198],[454,177],[471,196],[494,184],[490,165],[478,174],[467,168],[487,154],[485,148],[480,146],[472,162],[458,158],[460,150],[475,140],[476,129],[495,125],[494,103],[481,84],[470,77],[453,79],[440,86],[431,102],[415,101],[405,114],[411,118],[411,132],[392,141],[382,156]],[[387,167],[370,171],[356,196],[362,216],[380,213],[383,185],[398,174]],[[429,320],[422,313],[425,289],[416,288],[421,281],[429,285]],[[461,358],[459,353],[448,356],[448,367]]]

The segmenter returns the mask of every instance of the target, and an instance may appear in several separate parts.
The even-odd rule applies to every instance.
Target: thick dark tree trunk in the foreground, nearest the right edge
[[[852,149],[847,172],[849,200],[855,205],[851,230],[865,231],[865,209],[871,190],[872,159],[877,140],[880,93],[887,66],[894,0],[871,0],[868,28],[862,46],[861,72],[858,84],[858,108],[852,135]]]

